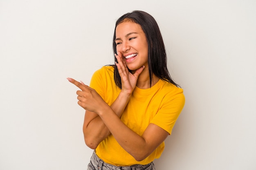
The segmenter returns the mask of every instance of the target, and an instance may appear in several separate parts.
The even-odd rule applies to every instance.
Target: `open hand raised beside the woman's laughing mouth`
[[[132,74],[129,72],[126,66],[126,62],[124,61],[123,55],[121,53],[118,53],[118,51],[117,51],[117,54],[115,54],[115,57],[117,58],[118,63],[116,62],[115,64],[117,65],[117,69],[121,77],[121,83],[122,83],[121,91],[131,95],[132,91],[134,90],[137,84],[137,79],[139,77],[139,74],[143,71],[145,66],[141,66],[135,71],[134,74]]]

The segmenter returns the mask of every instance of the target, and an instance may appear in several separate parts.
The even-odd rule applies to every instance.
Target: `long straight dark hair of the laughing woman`
[[[157,22],[151,15],[149,15],[144,11],[132,11],[131,13],[126,13],[117,20],[114,37],[113,37],[114,54],[117,53],[117,44],[115,43],[116,28],[117,28],[117,25],[124,22],[125,19],[128,19],[132,22],[139,24],[146,35],[146,39],[148,42],[148,70],[149,70],[150,86],[152,84],[153,74],[155,74],[160,79],[163,79],[167,82],[174,84],[175,86],[179,86],[173,81],[170,73],[168,72],[164,41],[160,33],[159,27],[157,25]],[[115,57],[115,62],[117,62],[116,57]],[[122,85],[121,77],[118,73],[117,66],[116,65],[113,65],[113,66],[115,68],[115,71],[114,71],[115,83],[119,88],[121,88],[121,85]]]

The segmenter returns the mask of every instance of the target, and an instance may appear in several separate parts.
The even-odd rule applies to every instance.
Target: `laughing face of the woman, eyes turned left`
[[[139,24],[126,21],[117,25],[115,42],[118,55],[130,70],[148,67],[148,42]]]

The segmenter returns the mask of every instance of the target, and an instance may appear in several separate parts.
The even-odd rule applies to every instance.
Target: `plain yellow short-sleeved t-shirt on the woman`
[[[121,89],[114,80],[114,68],[104,66],[94,73],[90,87],[94,88],[103,100],[111,105]],[[121,121],[137,134],[142,135],[148,124],[156,124],[170,135],[185,103],[183,90],[164,80],[159,80],[148,89],[135,87],[132,96],[121,115]],[[154,134],[152,134],[154,135]],[[164,142],[160,144],[146,159],[136,161],[109,135],[96,148],[96,154],[106,163],[115,166],[146,165],[161,156]]]

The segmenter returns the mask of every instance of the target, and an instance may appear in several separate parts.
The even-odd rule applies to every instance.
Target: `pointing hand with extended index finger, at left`
[[[85,110],[99,113],[103,110],[104,106],[108,105],[93,88],[83,84],[83,82],[77,82],[72,78],[67,79],[81,89],[81,91],[76,91],[76,94],[78,95],[77,99],[79,100],[77,103]]]

